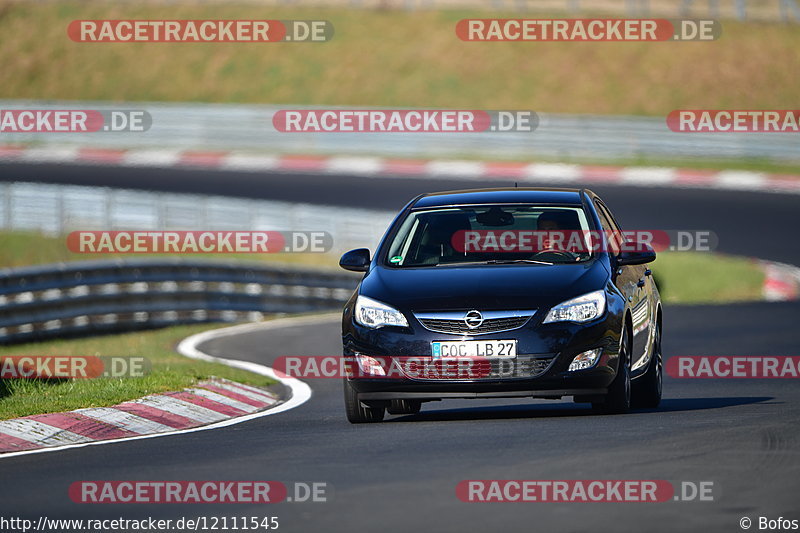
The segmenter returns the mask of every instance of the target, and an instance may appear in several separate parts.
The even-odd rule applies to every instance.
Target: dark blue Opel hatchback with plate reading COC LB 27
[[[657,407],[662,311],[647,266],[586,189],[448,191],[412,200],[342,321],[350,422],[446,398],[571,396],[602,412]]]

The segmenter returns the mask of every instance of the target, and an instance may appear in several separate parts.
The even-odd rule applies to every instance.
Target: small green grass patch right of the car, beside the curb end
[[[764,273],[745,257],[662,252],[652,265],[661,298],[671,304],[725,304],[761,299]]]

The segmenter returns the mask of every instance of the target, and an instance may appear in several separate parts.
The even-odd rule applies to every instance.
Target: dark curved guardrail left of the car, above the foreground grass
[[[358,276],[206,261],[93,261],[0,271],[0,343],[341,309]]]

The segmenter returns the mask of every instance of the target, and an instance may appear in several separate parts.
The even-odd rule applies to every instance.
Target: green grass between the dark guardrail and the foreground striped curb
[[[107,407],[148,394],[181,390],[210,376],[254,386],[274,383],[274,380],[258,374],[189,359],[175,352],[180,340],[210,327],[208,324],[176,326],[120,335],[2,346],[0,358],[12,355],[143,356],[149,359],[152,367],[148,375],[137,378],[0,380],[0,419],[83,407]]]

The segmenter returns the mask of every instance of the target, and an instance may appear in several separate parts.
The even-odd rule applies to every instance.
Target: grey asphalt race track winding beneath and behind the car
[[[136,177],[142,173],[149,177]],[[226,181],[222,174],[0,166],[6,180],[97,180],[124,187],[163,180],[173,190],[386,209],[401,207],[416,192],[479,185],[328,175],[286,180],[240,174]],[[797,196],[592,188],[624,227],[709,229],[717,233],[721,251],[800,264]],[[657,268],[656,262],[656,273]],[[797,355],[799,317],[797,302],[666,307],[664,355]],[[267,365],[280,355],[335,355],[337,318],[221,338],[201,349]],[[618,416],[593,415],[567,401],[451,400],[425,404],[417,416],[360,426],[344,418],[340,382],[309,381],[314,395],[306,404],[230,428],[1,460],[4,514],[266,515],[279,517],[281,531],[299,532],[731,532],[741,531],[744,516],[755,522],[753,530],[759,516],[800,518],[796,380],[667,377],[658,410]],[[91,506],[67,495],[74,481],[131,479],[322,481],[332,489],[326,503],[260,507]],[[710,481],[714,501],[470,504],[455,494],[464,479],[664,479],[676,487]]]

